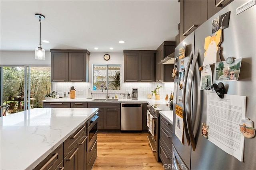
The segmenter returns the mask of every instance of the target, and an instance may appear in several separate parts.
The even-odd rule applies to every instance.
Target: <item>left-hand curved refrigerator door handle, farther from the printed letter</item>
[[[184,75],[184,81],[183,81],[183,87],[182,87],[182,117],[183,117],[183,123],[184,123],[184,131],[185,131],[185,135],[186,135],[186,139],[188,142],[188,146],[190,145],[190,136],[188,134],[188,127],[187,127],[187,118],[186,118],[186,87],[187,87],[187,79],[188,79],[188,72],[190,68],[190,64],[192,63],[192,59],[193,59],[193,53],[191,51],[189,59],[188,59],[188,63],[186,66],[186,71],[185,71],[185,75]]]

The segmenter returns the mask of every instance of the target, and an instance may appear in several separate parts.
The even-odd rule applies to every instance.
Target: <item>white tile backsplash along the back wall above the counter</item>
[[[170,97],[171,92],[173,92],[173,82],[152,82],[152,83],[138,83],[138,82],[123,82],[121,90],[108,90],[108,95],[110,98],[114,97],[117,94],[118,98],[120,94],[129,92],[131,94],[132,88],[138,88],[138,98],[147,98],[147,94],[152,94],[152,90],[156,86],[162,86],[159,89],[160,98],[164,99],[166,94]],[[52,91],[56,91],[60,97],[64,97],[64,92],[66,96],[68,95],[69,88],[74,86],[76,88],[76,98],[87,98],[88,89],[92,89],[92,84],[90,82],[52,82]],[[106,90],[92,90],[92,98],[106,98]],[[154,98],[154,95],[152,96]]]

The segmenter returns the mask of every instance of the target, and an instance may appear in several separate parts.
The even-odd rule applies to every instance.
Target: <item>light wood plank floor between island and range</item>
[[[148,133],[98,133],[98,157],[92,170],[163,170],[150,148]]]

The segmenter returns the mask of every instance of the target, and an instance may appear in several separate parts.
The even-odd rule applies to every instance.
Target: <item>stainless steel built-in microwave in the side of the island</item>
[[[87,151],[91,150],[97,142],[97,134],[98,134],[98,115],[97,113],[87,121]]]

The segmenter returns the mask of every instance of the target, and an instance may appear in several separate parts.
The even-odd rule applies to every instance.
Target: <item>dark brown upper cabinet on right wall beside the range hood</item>
[[[175,42],[164,41],[156,50],[156,82],[173,82],[172,69],[174,64],[157,64],[174,52]]]

